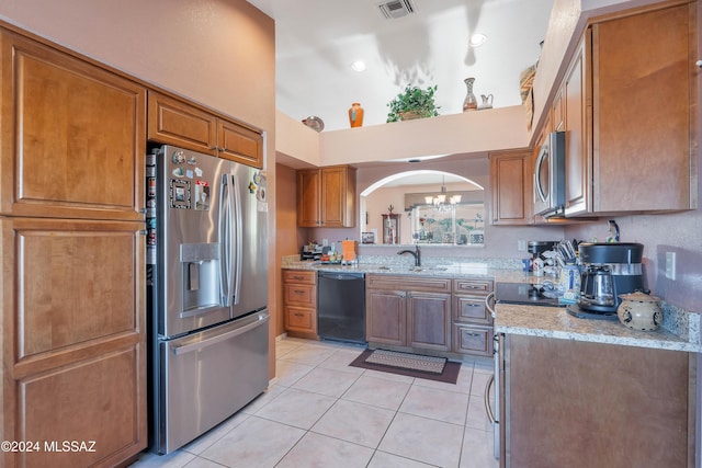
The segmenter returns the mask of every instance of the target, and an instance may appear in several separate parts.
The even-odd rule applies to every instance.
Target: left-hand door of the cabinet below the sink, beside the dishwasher
[[[407,294],[366,289],[365,320],[367,341],[404,346],[407,344]]]

